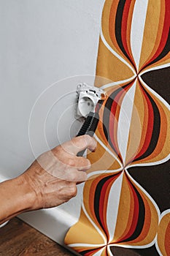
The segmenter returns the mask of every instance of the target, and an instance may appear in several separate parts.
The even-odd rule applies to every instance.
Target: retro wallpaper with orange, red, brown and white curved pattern
[[[96,85],[107,99],[65,238],[80,255],[170,255],[169,24],[169,0],[104,3]]]

